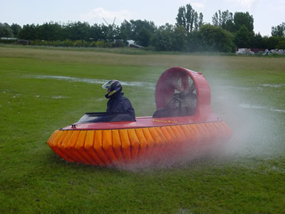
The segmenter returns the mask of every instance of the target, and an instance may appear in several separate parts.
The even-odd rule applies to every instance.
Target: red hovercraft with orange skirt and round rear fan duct
[[[153,116],[86,113],[77,123],[54,131],[48,146],[66,161],[125,165],[180,156],[227,141],[232,131],[211,108],[211,91],[202,73],[170,68],[155,87]]]

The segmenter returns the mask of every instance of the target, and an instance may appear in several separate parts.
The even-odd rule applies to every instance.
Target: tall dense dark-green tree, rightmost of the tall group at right
[[[254,31],[254,17],[250,15],[249,12],[234,13],[234,30],[239,31],[242,25],[244,25],[249,32]]]

